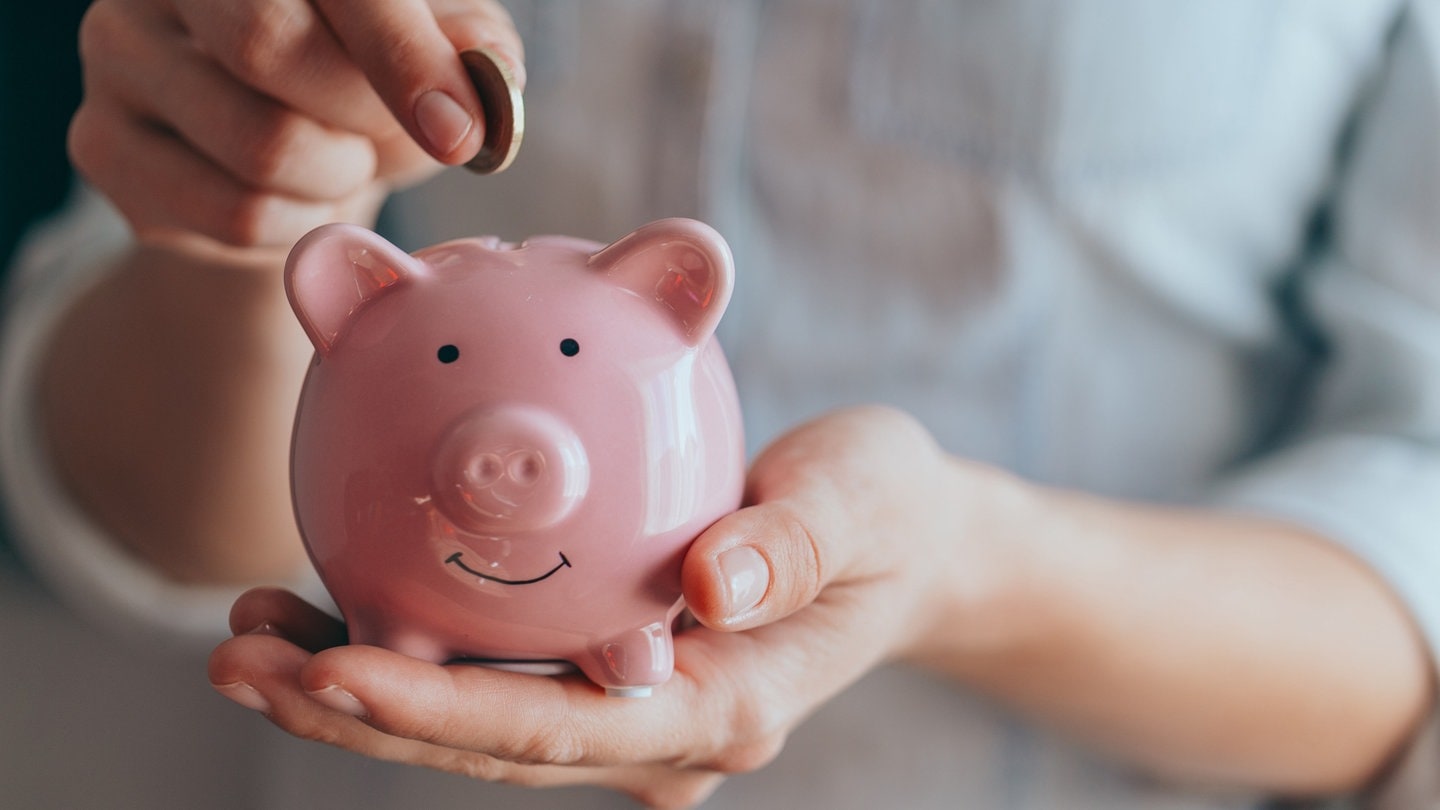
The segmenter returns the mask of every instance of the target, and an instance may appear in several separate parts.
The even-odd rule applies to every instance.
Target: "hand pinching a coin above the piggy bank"
[[[288,248],[478,151],[481,45],[523,81],[494,0],[96,0],[71,154],[141,239]]]

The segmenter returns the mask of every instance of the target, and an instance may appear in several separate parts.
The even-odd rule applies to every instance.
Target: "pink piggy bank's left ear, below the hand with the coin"
[[[285,294],[321,357],[367,303],[423,272],[409,254],[356,225],[321,225],[285,259]]]

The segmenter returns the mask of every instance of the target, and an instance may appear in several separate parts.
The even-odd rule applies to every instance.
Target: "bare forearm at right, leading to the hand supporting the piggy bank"
[[[1427,711],[1424,643],[1335,545],[1001,486],[1024,515],[1005,539],[1025,574],[991,604],[992,630],[939,621],[927,663],[1140,767],[1280,793],[1362,785]]]

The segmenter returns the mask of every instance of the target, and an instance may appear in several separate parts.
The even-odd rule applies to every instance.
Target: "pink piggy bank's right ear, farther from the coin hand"
[[[693,219],[651,222],[590,257],[590,265],[654,301],[691,346],[714,333],[734,288],[730,246]]]

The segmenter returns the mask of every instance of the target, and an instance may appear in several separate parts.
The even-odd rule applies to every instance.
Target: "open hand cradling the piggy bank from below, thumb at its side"
[[[274,589],[236,602],[239,636],[215,651],[210,679],[295,735],[372,757],[687,807],[723,774],[769,762],[816,706],[927,633],[939,572],[965,545],[952,540],[963,535],[953,493],[982,490],[984,476],[958,486],[965,474],[884,409],[776,441],[755,461],[747,506],[688,552],[700,626],[677,634],[675,675],[647,699],[340,646],[341,626]]]

